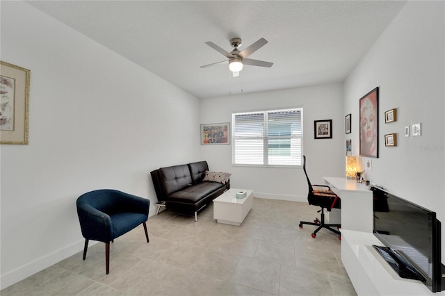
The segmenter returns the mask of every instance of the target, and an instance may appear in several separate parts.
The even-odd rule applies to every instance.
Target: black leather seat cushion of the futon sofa
[[[222,183],[204,181],[197,183],[196,185],[183,188],[182,190],[172,192],[170,195],[168,195],[168,201],[194,204],[203,197],[224,186],[225,185]]]

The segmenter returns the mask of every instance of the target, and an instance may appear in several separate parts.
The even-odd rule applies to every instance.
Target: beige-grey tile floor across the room
[[[241,227],[218,224],[209,206],[194,217],[167,211],[111,245],[97,243],[4,290],[8,295],[357,295],[341,264],[340,240],[314,227],[318,208],[254,199]],[[91,243],[91,242],[90,242]]]

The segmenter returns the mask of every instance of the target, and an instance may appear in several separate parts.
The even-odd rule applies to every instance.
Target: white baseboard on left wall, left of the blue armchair
[[[26,279],[31,275],[44,270],[45,268],[49,268],[49,266],[54,265],[65,258],[68,258],[79,250],[83,250],[83,246],[85,244],[85,240],[79,240],[74,242],[72,245],[64,247],[62,249],[58,249],[55,252],[37,258],[25,265],[19,266],[15,268],[15,270],[11,270],[6,272],[5,274],[1,274],[0,276],[0,290],[4,288],[8,288],[9,286],[22,281],[22,279]],[[93,244],[91,244],[93,245]]]

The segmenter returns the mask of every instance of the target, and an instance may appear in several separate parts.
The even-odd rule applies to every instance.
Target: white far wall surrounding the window
[[[342,88],[337,83],[204,99],[201,123],[232,122],[232,113],[238,111],[303,106],[306,169],[312,183],[323,184],[323,176],[344,176]],[[330,119],[332,139],[315,140],[314,120]],[[232,188],[253,189],[257,197],[307,201],[307,181],[302,168],[232,166],[232,145],[202,146],[201,152],[210,170],[232,173]]]

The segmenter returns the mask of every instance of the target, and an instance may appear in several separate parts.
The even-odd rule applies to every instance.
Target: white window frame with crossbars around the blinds
[[[268,115],[270,113],[279,113],[284,112],[286,110],[300,110],[300,125],[301,125],[301,134],[300,135],[277,135],[277,136],[270,136],[268,135]],[[236,139],[238,137],[235,137],[236,132],[236,116],[237,115],[248,115],[248,114],[255,114],[255,113],[263,113],[263,122],[264,122],[264,130],[263,135],[261,137],[261,140],[263,141],[263,163],[262,164],[249,164],[249,163],[235,163],[235,150],[236,150]],[[249,138],[249,137],[245,137]],[[254,138],[254,137],[252,137]],[[277,164],[265,164],[266,161],[268,161],[269,151],[268,151],[268,140],[270,139],[299,139],[301,142],[301,148],[300,148],[300,165],[277,165]],[[232,113],[232,166],[238,166],[238,167],[281,167],[281,168],[296,168],[296,167],[302,167],[302,156],[303,156],[303,148],[304,148],[304,126],[303,126],[303,106],[293,106],[293,107],[283,107],[283,108],[266,108],[266,109],[260,109],[260,110],[248,110],[248,111],[238,111]]]

